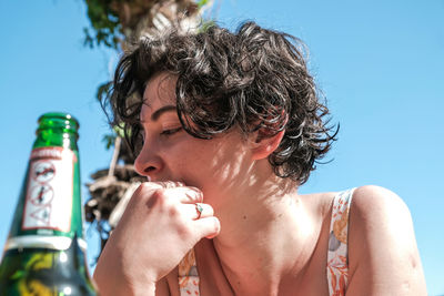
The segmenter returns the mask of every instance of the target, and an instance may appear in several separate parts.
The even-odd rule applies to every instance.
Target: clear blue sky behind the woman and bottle
[[[412,212],[430,295],[444,294],[444,1],[254,1],[216,3],[218,19],[245,19],[300,37],[329,100],[339,141],[302,192],[377,184]],[[97,85],[117,54],[82,45],[81,0],[0,1],[0,244],[34,140],[37,118],[69,111],[81,124],[82,182],[108,166]],[[83,186],[83,198],[87,198]],[[89,261],[97,255],[87,231]]]

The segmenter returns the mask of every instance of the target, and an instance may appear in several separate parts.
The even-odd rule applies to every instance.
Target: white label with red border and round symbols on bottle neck
[[[63,147],[40,147],[31,153],[22,231],[71,228],[75,154]],[[38,233],[44,234],[40,231]]]

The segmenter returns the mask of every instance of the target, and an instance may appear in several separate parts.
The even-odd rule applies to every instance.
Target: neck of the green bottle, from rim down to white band
[[[67,249],[73,237],[85,247],[78,126],[74,119],[62,113],[48,113],[39,119],[7,248]]]

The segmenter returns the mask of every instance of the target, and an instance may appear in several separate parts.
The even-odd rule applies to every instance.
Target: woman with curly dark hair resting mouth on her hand
[[[248,22],[121,59],[114,123],[148,182],[99,259],[101,295],[426,295],[394,193],[299,194],[335,136],[302,49]]]

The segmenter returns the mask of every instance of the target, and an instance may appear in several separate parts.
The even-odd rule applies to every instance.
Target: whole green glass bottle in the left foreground
[[[0,296],[95,295],[82,228],[78,121],[39,119],[0,265]]]

